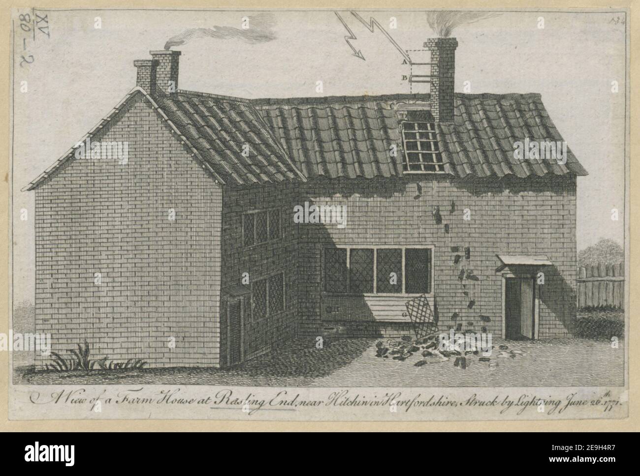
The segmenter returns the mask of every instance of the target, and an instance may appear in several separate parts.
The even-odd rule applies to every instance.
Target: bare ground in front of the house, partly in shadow
[[[325,342],[324,348],[317,349],[314,339],[297,339],[269,355],[227,370],[178,367],[53,372],[20,366],[14,372],[13,383],[283,387],[624,385],[623,335],[623,311],[580,311],[577,337],[549,341],[494,339],[490,355],[470,353],[465,365],[459,359],[456,365],[456,358],[461,356],[433,351],[433,346],[426,349],[428,342],[419,342],[417,349],[412,349],[415,342],[399,339],[339,339]],[[611,337],[618,337],[617,348],[612,346]],[[425,350],[432,355],[423,357]],[[397,356],[406,358],[394,359]]]

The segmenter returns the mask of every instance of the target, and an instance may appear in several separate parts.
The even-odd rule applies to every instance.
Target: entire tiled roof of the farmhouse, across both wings
[[[136,87],[85,137],[104,127],[138,93],[147,97],[202,167],[228,185],[402,176],[404,152],[396,107],[429,98],[405,94],[247,100],[189,91],[152,97]],[[454,122],[435,123],[435,130],[440,173],[587,174],[570,150],[563,165],[513,157],[517,141],[563,141],[538,94],[456,94]],[[67,151],[24,190],[37,187],[73,152]]]

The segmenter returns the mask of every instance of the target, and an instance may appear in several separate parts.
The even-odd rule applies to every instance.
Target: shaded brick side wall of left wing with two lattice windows
[[[293,207],[298,201],[298,185],[225,188],[222,215],[222,288],[241,284],[243,273],[250,283],[274,273],[284,273],[285,312],[260,320],[245,316],[242,326],[242,358],[256,357],[294,338],[298,307],[298,229],[293,223]],[[242,215],[248,211],[280,208],[282,239],[244,247]],[[253,316],[253,313],[252,313]],[[223,344],[227,342],[223,326]]]

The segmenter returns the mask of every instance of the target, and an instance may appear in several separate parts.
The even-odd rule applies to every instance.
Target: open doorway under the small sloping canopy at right
[[[536,286],[531,277],[506,277],[504,325],[507,339],[533,339],[535,332]]]

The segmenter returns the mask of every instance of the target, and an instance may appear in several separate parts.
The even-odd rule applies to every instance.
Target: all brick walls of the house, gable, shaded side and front
[[[35,330],[52,334],[54,351],[66,354],[86,341],[94,358],[225,365],[220,289],[239,284],[244,272],[250,280],[283,272],[285,311],[243,322],[243,360],[298,334],[322,335],[349,319],[348,312],[342,320],[323,319],[322,254],[333,245],[433,245],[441,326],[454,324],[458,312],[458,322],[479,328],[483,314],[495,334],[502,332],[495,255],[545,254],[554,266],[538,289],[539,337],[573,334],[574,176],[315,179],[222,190],[141,95],[92,140],[129,142],[128,163],[73,158],[36,189]],[[346,205],[346,228],[294,224],[293,208],[305,201]],[[435,206],[442,224],[433,218]],[[242,214],[276,207],[282,239],[244,247]],[[463,219],[465,208],[470,220]],[[175,220],[168,219],[170,209]],[[454,265],[454,246],[470,247],[470,260]],[[461,266],[479,278],[466,289],[469,297],[458,280]],[[467,309],[470,298],[476,304]],[[370,324],[358,326],[374,332]],[[47,361],[38,357],[36,364]]]

